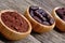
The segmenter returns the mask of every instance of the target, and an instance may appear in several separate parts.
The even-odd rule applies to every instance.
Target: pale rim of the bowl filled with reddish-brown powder
[[[31,32],[31,25],[30,25],[30,23],[29,23],[29,20],[24,16],[24,15],[22,15],[21,13],[18,13],[20,14],[20,16],[22,16],[26,22],[27,22],[27,24],[28,24],[28,30],[26,31],[26,32],[17,32],[17,31],[15,31],[15,30],[13,30],[13,29],[10,29],[3,22],[2,22],[2,19],[1,19],[1,14],[2,13],[4,13],[4,12],[16,12],[16,13],[18,13],[16,10],[2,10],[2,11],[0,11],[0,23],[9,30],[9,31],[11,31],[11,32],[13,32],[13,33],[17,33],[17,34],[26,34],[26,33],[30,33]]]

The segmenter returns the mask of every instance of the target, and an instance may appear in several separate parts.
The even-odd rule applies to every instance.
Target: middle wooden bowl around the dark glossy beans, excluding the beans
[[[48,11],[46,11],[46,12],[51,16],[51,14]],[[47,26],[47,25],[42,25],[42,24],[38,23],[37,20],[35,20],[29,14],[29,8],[25,11],[25,16],[31,23],[32,30],[38,33],[48,32],[48,31],[52,30],[55,26],[55,22],[53,25]]]

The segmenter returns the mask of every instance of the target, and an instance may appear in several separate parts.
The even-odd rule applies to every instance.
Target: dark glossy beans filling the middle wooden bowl
[[[29,13],[34,19],[43,25],[52,25],[54,23],[54,19],[44,10],[38,6],[30,6]]]

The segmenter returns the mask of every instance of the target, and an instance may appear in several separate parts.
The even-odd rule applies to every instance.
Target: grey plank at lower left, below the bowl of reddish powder
[[[9,41],[6,40],[1,33],[0,33],[0,43],[41,43],[38,40],[36,40],[32,35],[28,35],[24,40],[18,40],[18,41]]]

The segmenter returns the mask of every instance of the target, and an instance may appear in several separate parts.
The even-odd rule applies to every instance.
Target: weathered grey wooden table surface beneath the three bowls
[[[0,10],[13,9],[22,14],[29,5],[41,6],[51,13],[56,6],[65,6],[65,0],[0,0]],[[9,41],[0,33],[0,43],[65,43],[65,33],[55,29],[42,34],[31,32],[20,41]]]

